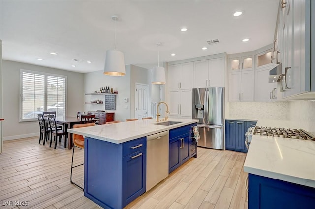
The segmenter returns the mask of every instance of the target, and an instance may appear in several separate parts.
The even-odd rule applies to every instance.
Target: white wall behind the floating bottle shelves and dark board
[[[104,75],[103,71],[84,74],[83,95],[99,91],[100,87],[103,86],[109,86],[114,91],[118,91],[116,95],[116,110],[106,110],[106,112],[115,112],[115,120],[125,121],[127,118],[130,118],[130,65],[126,65],[125,76],[108,76]],[[129,98],[129,102],[125,103],[124,98]],[[105,101],[105,95],[84,95],[84,102],[97,99]],[[105,110],[105,102],[103,104],[84,104],[83,110],[85,112]]]

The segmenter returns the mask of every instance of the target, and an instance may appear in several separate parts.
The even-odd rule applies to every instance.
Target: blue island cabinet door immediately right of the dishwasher
[[[181,165],[180,158],[181,140],[176,137],[169,141],[169,172],[171,173]]]

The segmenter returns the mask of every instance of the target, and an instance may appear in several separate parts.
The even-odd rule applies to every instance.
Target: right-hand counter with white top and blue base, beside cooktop
[[[275,120],[257,125],[294,128]],[[315,141],[253,135],[244,171],[249,209],[314,208]]]

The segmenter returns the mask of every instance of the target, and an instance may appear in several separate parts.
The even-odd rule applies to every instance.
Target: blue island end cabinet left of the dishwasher
[[[114,144],[85,139],[84,196],[122,209],[146,190],[146,137]]]

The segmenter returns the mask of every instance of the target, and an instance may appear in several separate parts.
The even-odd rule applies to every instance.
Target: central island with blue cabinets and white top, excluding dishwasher
[[[84,195],[104,208],[122,209],[143,194],[146,136],[169,130],[170,172],[190,157],[196,157],[191,126],[197,120],[168,121],[179,123],[158,125],[163,121],[146,119],[69,129],[70,133],[85,137]]]

